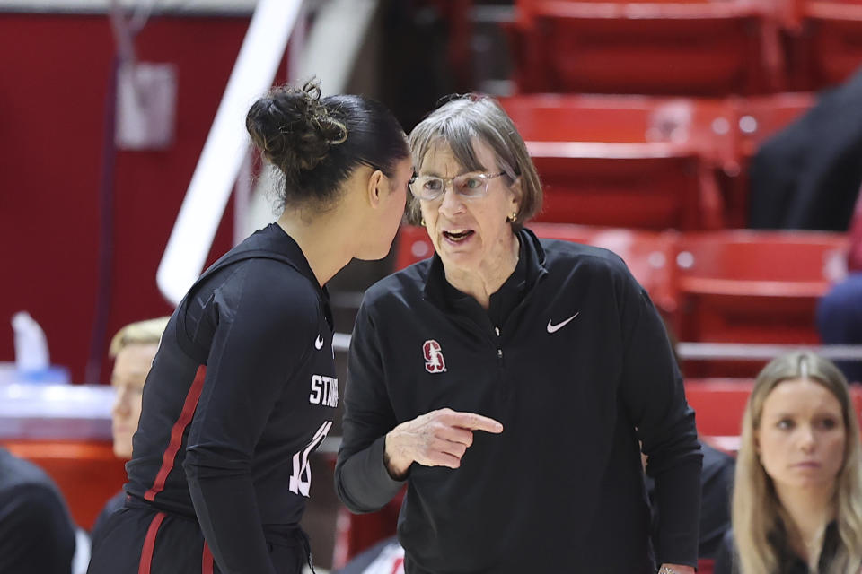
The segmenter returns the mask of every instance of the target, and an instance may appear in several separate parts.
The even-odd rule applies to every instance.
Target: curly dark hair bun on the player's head
[[[288,185],[314,170],[333,145],[347,141],[347,126],[321,102],[321,85],[281,86],[257,100],[245,118],[251,141],[285,174]],[[337,110],[336,110],[337,111]]]

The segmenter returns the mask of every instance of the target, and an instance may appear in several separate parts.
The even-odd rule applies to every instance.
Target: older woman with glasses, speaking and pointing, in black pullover
[[[523,227],[541,186],[495,100],[449,101],[410,144],[436,254],[365,293],[341,500],[373,511],[407,483],[409,574],[693,572],[700,448],[646,291],[620,257]]]

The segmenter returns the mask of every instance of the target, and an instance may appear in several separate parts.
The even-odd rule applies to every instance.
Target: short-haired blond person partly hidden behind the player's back
[[[121,328],[110,341],[108,352],[114,360],[110,385],[117,396],[110,411],[110,432],[114,439],[114,454],[128,460],[132,457],[132,435],[141,417],[141,395],[155,352],[159,349],[164,327],[170,317],[159,317],[131,323]],[[119,491],[101,509],[92,526],[92,536],[99,536],[108,517],[123,508],[126,493]]]

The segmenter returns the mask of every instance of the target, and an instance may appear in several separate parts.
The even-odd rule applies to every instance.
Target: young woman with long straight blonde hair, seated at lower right
[[[743,415],[733,531],[717,574],[857,574],[862,463],[847,381],[812,352],[778,357]]]

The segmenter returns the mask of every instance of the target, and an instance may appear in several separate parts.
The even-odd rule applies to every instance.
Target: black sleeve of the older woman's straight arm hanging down
[[[622,289],[620,392],[655,479],[659,563],[696,566],[702,456],[694,411],[664,324],[647,292],[630,277]]]

